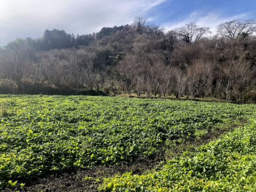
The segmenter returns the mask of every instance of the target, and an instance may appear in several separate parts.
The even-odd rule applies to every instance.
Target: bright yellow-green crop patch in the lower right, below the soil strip
[[[104,179],[103,191],[255,191],[256,120],[196,153],[168,161],[144,175]]]

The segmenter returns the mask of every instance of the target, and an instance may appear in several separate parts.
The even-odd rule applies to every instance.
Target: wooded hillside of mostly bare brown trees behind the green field
[[[1,94],[118,95],[256,101],[256,20],[165,31],[131,25],[77,35],[46,30],[0,48]]]

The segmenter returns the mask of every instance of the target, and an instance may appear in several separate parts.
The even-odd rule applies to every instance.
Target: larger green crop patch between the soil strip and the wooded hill
[[[2,95],[0,186],[70,166],[154,155],[222,119],[248,119],[255,105],[92,96]],[[15,183],[16,184],[16,183]]]

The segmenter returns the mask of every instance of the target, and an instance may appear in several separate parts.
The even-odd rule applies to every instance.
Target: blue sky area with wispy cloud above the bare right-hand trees
[[[197,22],[212,27],[232,19],[255,19],[256,0],[167,0],[152,8],[146,15],[151,22],[169,29],[184,23]]]

